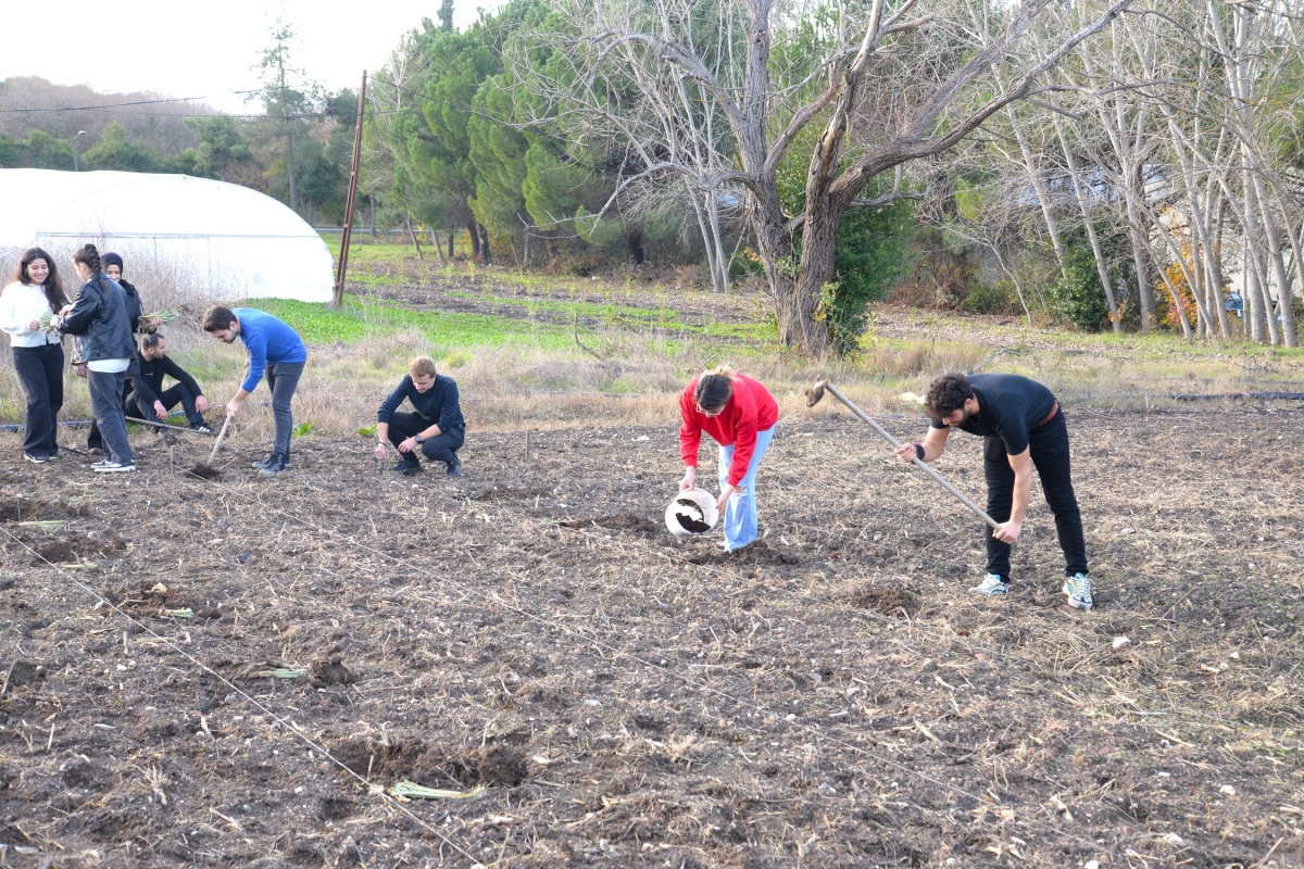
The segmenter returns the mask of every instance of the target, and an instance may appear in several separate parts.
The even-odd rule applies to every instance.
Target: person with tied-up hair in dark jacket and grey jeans
[[[136,470],[136,456],[126,439],[123,392],[134,374],[136,343],[126,293],[104,278],[95,245],[82,245],[73,254],[77,275],[85,281],[77,298],[53,318],[53,326],[76,336],[77,358],[86,366],[90,406],[104,440],[104,459],[91,468],[96,473]]]

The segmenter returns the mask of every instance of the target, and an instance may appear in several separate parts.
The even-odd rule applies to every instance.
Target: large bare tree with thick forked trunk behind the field
[[[1029,56],[1018,51],[1022,38],[1050,0],[1008,10],[871,0],[838,7],[832,33],[797,57],[785,16],[801,10],[775,0],[559,0],[556,29],[520,34],[505,61],[549,122],[623,160],[613,202],[639,184],[745,192],[781,336],[823,356],[831,335],[819,306],[835,275],[842,215],[918,195],[878,180],[955,147],[1026,96],[1128,1]],[[541,72],[532,52],[558,61]],[[1004,86],[991,76],[998,65],[1007,68]],[[812,124],[823,132],[810,155],[805,211],[794,216],[784,211],[777,173]]]

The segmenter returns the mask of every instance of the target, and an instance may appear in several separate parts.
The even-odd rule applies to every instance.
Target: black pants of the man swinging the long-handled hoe
[[[1064,575],[1086,573],[1086,541],[1082,538],[1082,513],[1073,495],[1069,474],[1068,426],[1064,413],[1039,429],[1028,433],[1028,448],[1042,478],[1046,503],[1055,513],[1055,530],[1064,551]],[[983,443],[983,474],[987,477],[987,513],[998,522],[1009,521],[1009,508],[1015,500],[1015,469],[1009,466],[1005,442],[986,438]],[[1009,582],[1009,543],[998,541],[987,529],[987,572]]]

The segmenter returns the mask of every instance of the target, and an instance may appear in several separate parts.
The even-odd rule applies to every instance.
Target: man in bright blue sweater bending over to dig
[[[271,390],[271,414],[276,421],[276,439],[271,456],[254,463],[262,474],[279,474],[289,470],[289,433],[295,420],[289,412],[289,400],[304,373],[308,350],[295,330],[265,311],[253,307],[223,307],[214,305],[203,315],[203,331],[223,344],[240,339],[249,350],[249,374],[227,404],[227,414],[235,417],[240,405],[258,386],[263,373],[267,374],[267,388]]]

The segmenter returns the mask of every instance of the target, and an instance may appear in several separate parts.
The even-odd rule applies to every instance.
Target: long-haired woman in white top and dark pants
[[[40,318],[67,304],[55,261],[40,248],[22,254],[13,283],[0,294],[0,330],[9,334],[13,367],[27,399],[22,452],[37,464],[59,457],[55,431],[64,406],[64,345],[57,332],[40,328]]]

